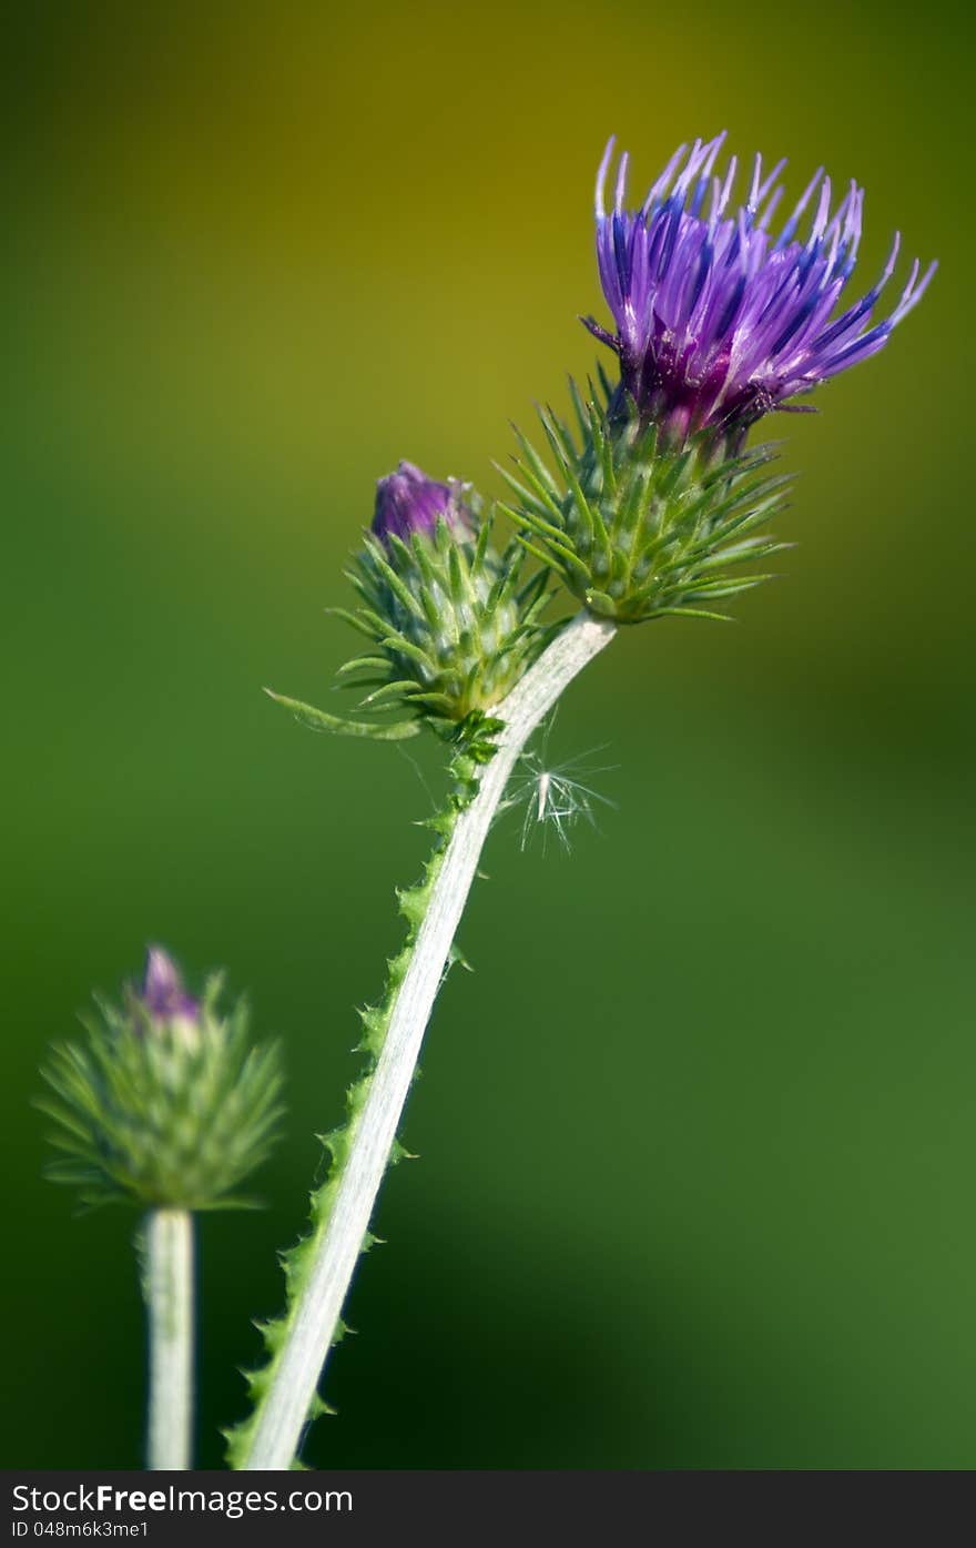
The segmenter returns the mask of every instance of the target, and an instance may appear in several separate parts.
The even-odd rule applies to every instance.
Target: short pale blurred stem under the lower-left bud
[[[145,1221],[148,1310],[147,1466],[190,1466],[193,1426],[193,1217],[153,1209]]]

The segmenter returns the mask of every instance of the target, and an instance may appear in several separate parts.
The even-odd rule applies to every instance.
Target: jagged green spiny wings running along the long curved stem
[[[436,837],[433,853],[424,867],[424,873],[415,887],[410,887],[405,892],[398,892],[399,912],[407,921],[407,938],[402,949],[387,966],[387,986],[381,1005],[367,1006],[359,1012],[362,1022],[362,1039],[357,1045],[357,1051],[363,1054],[363,1068],[346,1091],[345,1122],[329,1133],[319,1135],[319,1141],[328,1155],[329,1169],[325,1183],[316,1187],[309,1198],[311,1207],[308,1235],[282,1254],[286,1289],[285,1313],[282,1317],[271,1322],[255,1324],[264,1341],[268,1361],[257,1370],[244,1372],[252,1410],[240,1424],[224,1430],[224,1437],[227,1440],[227,1461],[230,1468],[235,1469],[246,1468],[247,1464],[260,1407],[271,1390],[277,1361],[291,1331],[302,1291],[308,1274],[311,1272],[311,1266],[319,1255],[322,1238],[328,1231],[342,1175],[370,1093],[370,1082],[387,1037],[393,1006],[407,974],[407,968],[410,966],[418,932],[424,916],[427,915],[449,841],[455,831],[458,817],[466,807],[470,805],[478,791],[478,766],[492,755],[490,738],[498,731],[498,721],[475,717],[475,724],[478,731],[473,735],[473,743],[470,737],[456,738],[459,748],[450,765],[452,791],[444,810],[436,816],[428,817],[425,822],[425,827],[432,828]],[[472,746],[475,751],[472,751]],[[461,954],[455,950],[452,960],[462,961]],[[407,1155],[408,1152],[398,1142],[394,1144],[388,1164],[393,1166]],[[367,1232],[362,1251],[367,1252],[373,1246],[374,1240],[376,1238]],[[333,1342],[337,1344],[346,1331],[345,1324],[340,1322]],[[333,1410],[328,1404],[320,1396],[316,1396],[308,1416],[309,1420],[314,1420],[331,1412]]]

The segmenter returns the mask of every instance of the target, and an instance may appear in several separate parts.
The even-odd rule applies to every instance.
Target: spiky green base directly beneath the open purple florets
[[[729,457],[712,433],[668,444],[620,392],[585,402],[571,387],[578,440],[540,410],[555,472],[518,430],[518,472],[501,469],[517,497],[503,509],[526,548],[619,624],[725,616],[715,602],[769,579],[739,567],[787,546],[758,531],[783,508],[789,481],[767,472],[773,449]]]

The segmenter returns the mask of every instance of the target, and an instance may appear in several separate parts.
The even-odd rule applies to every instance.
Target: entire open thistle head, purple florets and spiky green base
[[[916,262],[888,317],[872,311],[885,271],[862,300],[834,316],[854,272],[863,190],[832,209],[818,172],[776,237],[781,189],[756,158],[746,203],[730,211],[736,163],[715,166],[724,135],[682,149],[637,209],[626,209],[626,155],[613,209],[597,176],[597,262],[614,317],[589,330],[617,356],[603,396],[575,392],[578,440],[555,415],[543,429],[555,474],[520,437],[517,500],[509,514],[526,545],[599,615],[631,624],[667,613],[715,613],[715,604],[767,579],[741,573],[781,548],[759,533],[784,503],[772,449],[746,450],[750,427],[797,395],[875,354],[923,296],[934,265]],[[821,181],[823,178],[823,181]],[[806,240],[797,232],[812,211]]]

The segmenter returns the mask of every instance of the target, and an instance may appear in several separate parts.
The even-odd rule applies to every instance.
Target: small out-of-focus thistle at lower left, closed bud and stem
[[[190,1466],[193,1214],[241,1209],[238,1184],[268,1156],[282,1116],[275,1043],[255,1048],[247,1009],[220,1011],[221,977],[195,998],[161,947],[122,1003],[96,1002],[87,1040],[53,1048],[37,1105],[54,1122],[53,1181],[91,1209],[135,1204],[148,1313],[150,1468]]]

